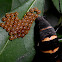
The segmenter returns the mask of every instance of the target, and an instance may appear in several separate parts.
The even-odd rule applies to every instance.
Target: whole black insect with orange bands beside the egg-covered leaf
[[[62,34],[61,23],[56,27],[52,27],[50,23],[39,16],[35,20],[34,41],[36,55],[33,62],[62,62],[62,43],[59,42],[57,33]]]

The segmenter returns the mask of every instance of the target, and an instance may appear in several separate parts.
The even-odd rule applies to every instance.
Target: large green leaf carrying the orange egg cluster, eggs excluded
[[[43,15],[44,0],[29,0],[11,12],[17,11],[21,19],[31,7],[38,7],[41,10],[40,15]],[[9,40],[8,32],[0,27],[0,62],[32,62],[35,55],[34,25],[35,22],[24,38],[17,38],[13,41]]]

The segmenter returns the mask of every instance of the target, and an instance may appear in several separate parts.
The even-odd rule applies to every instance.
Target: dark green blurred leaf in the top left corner
[[[0,0],[0,17],[11,10],[12,0]]]

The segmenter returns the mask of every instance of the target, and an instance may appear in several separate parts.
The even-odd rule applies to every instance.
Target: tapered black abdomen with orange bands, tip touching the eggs
[[[56,31],[42,16],[37,18],[39,28],[39,47],[44,53],[55,53],[59,49]]]

